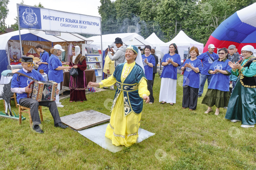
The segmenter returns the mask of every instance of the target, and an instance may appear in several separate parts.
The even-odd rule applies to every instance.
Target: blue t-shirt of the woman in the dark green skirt
[[[226,59],[225,61],[224,60],[222,61],[219,61],[218,59],[215,60],[210,66],[210,70],[212,71],[216,69],[226,70],[230,73],[231,67],[228,64],[230,60],[229,59]],[[229,75],[227,74],[225,75],[219,72],[213,74],[208,88],[229,92]]]

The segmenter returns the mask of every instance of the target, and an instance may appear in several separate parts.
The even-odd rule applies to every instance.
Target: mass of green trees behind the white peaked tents
[[[183,30],[206,43],[220,23],[256,0],[101,0],[102,33],[136,32],[147,38],[153,32],[164,42]]]

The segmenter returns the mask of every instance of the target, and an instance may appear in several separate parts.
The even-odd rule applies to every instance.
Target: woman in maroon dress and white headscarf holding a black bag
[[[80,47],[72,47],[72,56],[70,57],[69,66],[76,68],[78,76],[70,76],[70,103],[73,101],[83,102],[86,99],[85,89],[87,89],[87,82],[84,71],[87,68],[86,58],[80,54]]]

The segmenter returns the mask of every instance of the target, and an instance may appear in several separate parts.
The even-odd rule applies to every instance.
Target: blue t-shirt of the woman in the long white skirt
[[[179,54],[176,54],[176,53],[174,55],[164,54],[162,62],[167,62],[169,59],[173,60],[178,65],[181,64]],[[177,80],[177,67],[174,67],[171,63],[163,66],[161,78],[172,78],[174,80]]]

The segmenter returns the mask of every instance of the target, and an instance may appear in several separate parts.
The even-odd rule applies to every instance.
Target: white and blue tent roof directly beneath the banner
[[[8,40],[20,40],[19,31],[13,31],[13,32],[0,35],[0,50],[3,50],[6,48],[6,44]],[[74,33],[62,32],[60,36],[53,36],[53,35],[46,35],[45,31],[26,30],[26,29],[21,30],[21,40],[48,41],[48,42],[70,42],[70,41],[87,41],[87,43],[92,42],[92,40]]]

